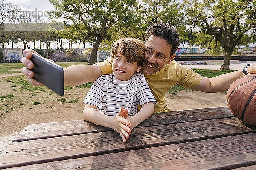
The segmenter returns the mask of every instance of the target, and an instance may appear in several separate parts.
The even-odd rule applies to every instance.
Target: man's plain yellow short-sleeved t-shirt
[[[108,57],[104,62],[98,62],[103,74],[112,74],[112,57]],[[170,64],[157,71],[153,75],[144,74],[157,103],[154,105],[154,113],[172,111],[167,107],[165,95],[166,92],[174,85],[181,85],[184,88],[195,88],[203,78],[200,74],[195,73],[191,68],[178,64],[172,60]],[[138,105],[138,111],[141,106]]]

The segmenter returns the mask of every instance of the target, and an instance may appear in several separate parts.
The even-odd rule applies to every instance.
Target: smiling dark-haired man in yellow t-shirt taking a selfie
[[[173,85],[182,85],[196,91],[221,92],[227,91],[236,79],[244,75],[241,69],[217,77],[203,77],[173,60],[179,45],[178,33],[169,24],[154,23],[146,32],[142,72],[157,101],[154,112],[171,111],[167,107],[164,96]],[[41,83],[32,78],[34,73],[29,70],[33,68],[33,63],[29,60],[31,52],[33,50],[23,51],[26,57],[21,60],[26,67],[22,68],[22,72],[28,76],[29,83],[40,86]],[[95,81],[102,74],[111,74],[111,62],[111,57],[109,57],[105,62],[94,65],[67,67],[64,69],[64,85],[78,86]],[[245,69],[249,74],[256,73],[256,65],[247,66]]]

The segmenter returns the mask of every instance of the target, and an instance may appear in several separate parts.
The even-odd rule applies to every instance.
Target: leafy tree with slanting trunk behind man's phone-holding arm
[[[94,64],[100,43],[108,30],[119,21],[131,18],[131,6],[135,0],[49,0],[55,6],[51,17],[63,17],[65,22],[80,25],[87,37],[94,37],[92,53],[88,64]]]

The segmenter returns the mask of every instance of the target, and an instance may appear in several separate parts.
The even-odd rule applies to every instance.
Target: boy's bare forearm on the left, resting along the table
[[[112,128],[113,116],[107,116],[105,114],[99,113],[99,111],[95,110],[94,108],[84,109],[83,118],[84,120],[94,124]]]

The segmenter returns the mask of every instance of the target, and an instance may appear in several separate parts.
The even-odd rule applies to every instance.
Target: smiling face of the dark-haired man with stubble
[[[145,59],[142,67],[143,73],[152,75],[169,64],[175,57],[171,54],[171,46],[160,37],[151,35],[145,43]]]

